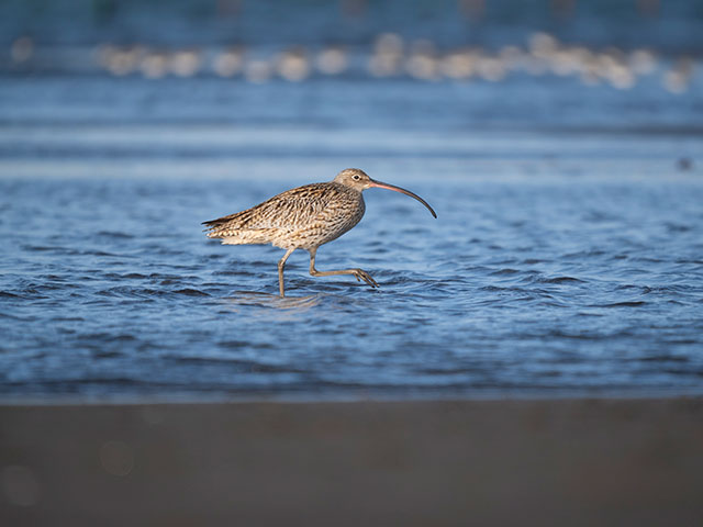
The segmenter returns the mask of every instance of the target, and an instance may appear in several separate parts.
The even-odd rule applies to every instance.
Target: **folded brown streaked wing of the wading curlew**
[[[315,221],[338,190],[328,183],[313,183],[287,190],[246,211],[203,222],[216,237],[219,232],[298,229]]]

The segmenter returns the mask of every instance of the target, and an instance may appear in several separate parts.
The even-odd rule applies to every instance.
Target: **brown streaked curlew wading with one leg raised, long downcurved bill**
[[[413,192],[369,178],[364,170],[347,168],[330,182],[312,183],[287,190],[246,211],[203,222],[209,238],[221,238],[224,245],[271,244],[286,249],[278,262],[278,285],[284,296],[283,268],[295,249],[310,253],[310,274],[330,277],[352,274],[372,288],[378,283],[362,269],[319,271],[315,269],[317,247],[338,238],[361,221],[366,205],[361,192],[372,187],[394,190],[432,206]]]

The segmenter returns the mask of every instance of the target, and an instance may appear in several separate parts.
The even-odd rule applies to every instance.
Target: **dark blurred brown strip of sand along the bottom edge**
[[[0,407],[0,525],[703,525],[703,399]]]

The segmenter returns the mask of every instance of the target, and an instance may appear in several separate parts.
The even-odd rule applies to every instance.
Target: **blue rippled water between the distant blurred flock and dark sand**
[[[0,88],[5,401],[703,393],[698,94],[45,80]],[[378,290],[297,251],[279,299],[280,249],[201,231],[354,166],[438,214],[369,190],[320,249]]]

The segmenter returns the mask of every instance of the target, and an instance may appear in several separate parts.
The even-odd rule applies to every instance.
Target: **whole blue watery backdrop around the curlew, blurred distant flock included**
[[[690,0],[2,0],[0,390],[700,392],[702,27]],[[366,193],[317,264],[380,291],[295,253],[279,304],[278,250],[200,231],[346,167],[439,216]]]

